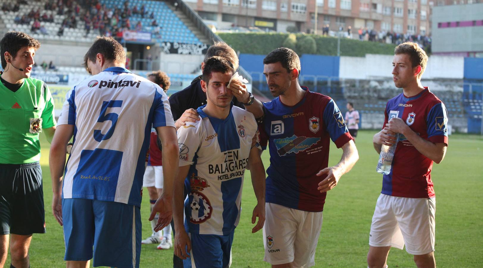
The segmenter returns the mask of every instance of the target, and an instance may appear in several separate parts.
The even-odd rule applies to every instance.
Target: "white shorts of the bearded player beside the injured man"
[[[306,212],[265,203],[264,261],[294,262],[295,267],[315,265],[315,248],[322,228],[322,212]]]

